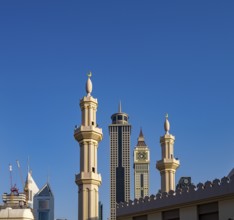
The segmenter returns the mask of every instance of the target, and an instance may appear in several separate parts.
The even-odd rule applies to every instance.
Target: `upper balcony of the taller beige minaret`
[[[74,137],[78,142],[82,141],[83,139],[93,139],[99,142],[102,140],[102,136],[102,129],[93,125],[81,125],[74,131]]]

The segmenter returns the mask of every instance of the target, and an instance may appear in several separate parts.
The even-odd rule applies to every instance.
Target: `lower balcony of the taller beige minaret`
[[[93,173],[93,172],[81,172],[76,175],[76,184],[95,184],[101,185],[102,177],[101,174]]]

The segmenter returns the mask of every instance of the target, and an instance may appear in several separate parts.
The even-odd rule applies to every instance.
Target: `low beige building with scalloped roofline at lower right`
[[[180,220],[234,219],[234,175],[118,204],[117,220],[164,220],[173,211]]]

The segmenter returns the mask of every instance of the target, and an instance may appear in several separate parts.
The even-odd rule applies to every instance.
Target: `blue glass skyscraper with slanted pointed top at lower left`
[[[33,199],[35,220],[54,220],[54,195],[46,183]]]

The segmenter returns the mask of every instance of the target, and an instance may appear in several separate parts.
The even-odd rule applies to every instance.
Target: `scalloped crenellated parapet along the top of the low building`
[[[176,191],[168,193],[158,193],[146,196],[145,198],[129,200],[128,202],[117,204],[117,217],[149,213],[155,210],[170,209],[170,207],[182,207],[193,203],[206,201],[218,201],[221,198],[234,198],[234,175],[230,178],[223,177],[199,183],[196,186],[190,185]]]

